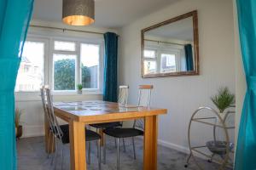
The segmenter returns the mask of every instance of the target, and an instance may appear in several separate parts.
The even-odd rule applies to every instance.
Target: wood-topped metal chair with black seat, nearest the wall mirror
[[[137,107],[141,107],[141,106],[150,107],[152,89],[153,89],[152,85],[139,86]],[[132,139],[133,156],[134,156],[134,159],[136,159],[136,149],[135,149],[134,138],[137,136],[143,136],[144,121],[143,119],[138,119],[133,122],[133,126],[131,128],[127,128],[127,127],[108,128],[108,129],[105,129],[103,133],[117,139],[117,170],[119,170],[119,139],[125,139],[125,138]],[[106,159],[106,153],[104,153],[104,159]]]

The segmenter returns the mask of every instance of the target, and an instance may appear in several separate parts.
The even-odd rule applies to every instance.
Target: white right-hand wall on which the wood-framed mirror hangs
[[[143,79],[141,30],[192,10],[198,10],[200,76]],[[235,49],[232,0],[183,0],[134,21],[120,30],[119,83],[130,86],[129,101],[136,103],[137,86],[153,84],[152,105],[167,108],[159,119],[161,144],[187,151],[189,118],[199,106],[212,106],[210,97],[221,86],[235,93]],[[198,126],[195,143],[212,130]]]

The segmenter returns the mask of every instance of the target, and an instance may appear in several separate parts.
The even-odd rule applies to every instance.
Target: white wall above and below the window
[[[61,28],[70,28],[70,29],[79,29],[82,31],[99,31],[107,32],[116,30],[105,29],[105,28],[96,28],[96,27],[73,27],[66,26],[60,23],[45,22],[42,20],[32,20],[32,25],[37,26],[54,26]],[[96,34],[87,34],[74,31],[56,31],[50,29],[41,29],[41,28],[30,28],[28,35],[39,35],[39,36],[54,36],[54,37],[78,37],[79,39],[95,39],[103,38],[102,35]],[[87,99],[102,99],[102,94],[72,94],[72,95],[55,95],[54,101],[78,101],[78,100],[87,100]],[[23,114],[20,117],[21,124],[23,125],[23,137],[32,137],[44,135],[44,111],[39,97],[39,93],[16,93],[15,94],[16,107],[23,110]]]

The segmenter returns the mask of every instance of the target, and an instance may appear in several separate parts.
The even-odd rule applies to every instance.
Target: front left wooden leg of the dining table
[[[84,122],[69,122],[70,169],[86,170]]]

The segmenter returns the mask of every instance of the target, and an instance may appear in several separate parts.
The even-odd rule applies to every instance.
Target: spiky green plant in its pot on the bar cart
[[[231,105],[235,104],[235,94],[231,94],[229,88],[219,88],[218,94],[211,97],[212,102],[218,108],[218,114],[224,121],[224,111],[229,108]],[[218,120],[218,122],[220,122]]]

